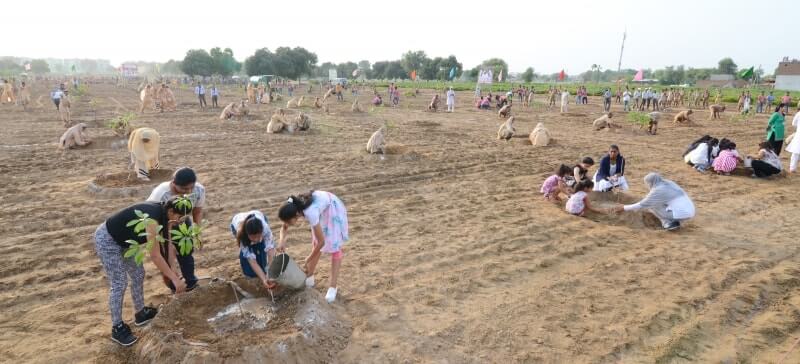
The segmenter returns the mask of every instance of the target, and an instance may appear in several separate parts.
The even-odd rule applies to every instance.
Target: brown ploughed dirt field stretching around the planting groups
[[[92,234],[150,187],[126,196],[88,185],[127,173],[127,151],[103,125],[138,110],[138,94],[92,85],[73,100],[73,119],[93,126],[98,142],[61,153],[50,86],[33,86],[31,111],[0,105],[0,362],[135,362],[135,349],[109,340],[108,288]],[[228,229],[234,213],[260,209],[277,234],[289,194],[313,188],[342,198],[351,241],[334,306],[352,331],[331,361],[776,363],[800,338],[798,177],[702,175],[681,159],[706,133],[755,153],[767,115],[740,122],[727,112],[712,122],[698,111],[698,125],[686,127],[672,125],[679,110],[671,110],[651,136],[624,122],[593,131],[597,99],[570,105],[567,115],[537,104],[514,110],[520,137],[505,142],[496,139],[503,120],[475,110],[471,93],[459,93],[452,114],[424,111],[432,91],[403,97],[399,108],[368,107],[363,93],[365,113],[350,112],[350,93],[331,102],[329,115],[305,108],[313,128],[298,135],[265,133],[277,105],[223,122],[220,109],[199,110],[187,90],[176,92],[177,112],[151,110],[134,121],[161,133],[163,168],[191,166],[208,190],[199,275],[241,278]],[[228,90],[220,103],[243,95]],[[365,143],[384,122],[394,126],[391,154],[368,155]],[[537,122],[553,145],[527,142]],[[612,143],[628,161],[631,191],[605,200],[643,196],[642,178],[659,171],[694,199],[696,219],[665,232],[641,214],[579,218],[542,200],[540,185],[558,164],[599,161]],[[307,229],[292,230],[296,259],[310,250]],[[169,301],[157,269],[145,264],[146,302]],[[323,294],[329,269],[323,257],[315,288]],[[129,294],[124,317],[133,318]],[[800,349],[785,362],[800,362]]]

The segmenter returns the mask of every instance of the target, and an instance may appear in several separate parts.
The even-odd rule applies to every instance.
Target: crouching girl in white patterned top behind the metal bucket
[[[275,257],[275,243],[267,218],[261,211],[241,212],[231,220],[231,233],[239,246],[239,265],[249,278],[258,278],[265,288],[273,288],[267,267]]]

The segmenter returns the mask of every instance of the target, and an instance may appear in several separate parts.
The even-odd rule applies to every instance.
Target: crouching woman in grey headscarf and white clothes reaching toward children
[[[624,212],[647,209],[661,220],[661,225],[666,230],[676,230],[681,227],[682,221],[694,217],[692,199],[675,182],[651,172],[644,177],[644,184],[650,189],[647,196],[633,205],[619,205],[614,210]]]

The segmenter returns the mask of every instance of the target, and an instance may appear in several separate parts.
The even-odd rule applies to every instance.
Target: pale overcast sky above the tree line
[[[593,63],[616,69],[625,29],[623,68],[716,67],[729,56],[772,73],[782,57],[800,58],[800,7],[790,0],[9,0],[3,13],[12,32],[0,55],[115,65],[182,59],[190,48],[230,47],[243,61],[258,48],[301,46],[320,64],[421,49],[465,68],[500,57],[512,72],[576,74]]]

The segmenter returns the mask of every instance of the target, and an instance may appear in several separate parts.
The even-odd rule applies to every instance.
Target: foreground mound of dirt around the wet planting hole
[[[212,282],[169,302],[143,330],[139,361],[327,363],[349,342],[350,324],[315,290],[277,294],[274,304],[238,298]]]

